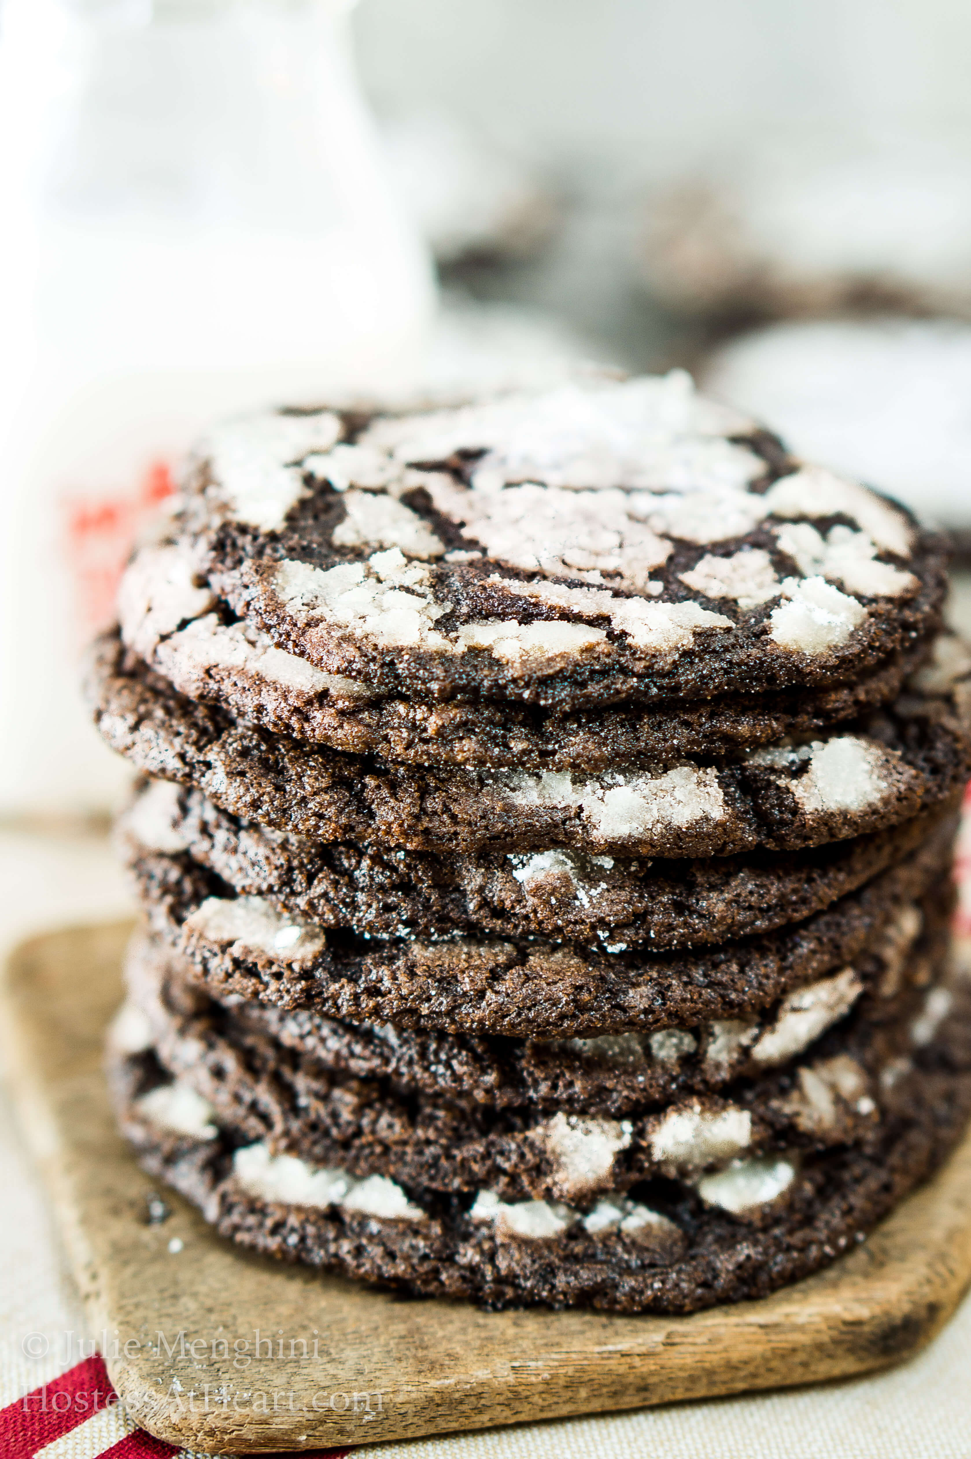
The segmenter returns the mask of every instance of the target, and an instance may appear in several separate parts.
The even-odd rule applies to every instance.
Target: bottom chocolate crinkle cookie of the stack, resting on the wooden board
[[[886,1118],[872,1135],[733,1160],[691,1182],[655,1177],[589,1210],[404,1189],[265,1144],[233,1148],[191,1093],[184,1132],[165,1129],[136,1104],[157,1084],[150,1053],[115,1055],[112,1084],[143,1167],[242,1246],[493,1309],[687,1313],[765,1296],[825,1266],[943,1160],[971,1110],[971,989],[952,982],[946,998],[933,1037],[916,1033],[913,1055],[885,1069]]]

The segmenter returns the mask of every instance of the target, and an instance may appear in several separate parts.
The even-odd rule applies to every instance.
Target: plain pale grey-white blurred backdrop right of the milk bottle
[[[607,187],[767,127],[971,124],[959,0],[362,0],[383,105],[436,102]]]

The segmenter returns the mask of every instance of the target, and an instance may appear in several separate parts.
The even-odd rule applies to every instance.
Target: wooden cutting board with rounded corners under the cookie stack
[[[150,1224],[159,1188],[115,1134],[101,1077],[128,931],[20,945],[0,1021],[111,1379],[171,1443],[316,1449],[844,1377],[916,1352],[971,1280],[971,1137],[828,1271],[691,1317],[402,1300],[238,1250],[168,1192],[171,1215]]]

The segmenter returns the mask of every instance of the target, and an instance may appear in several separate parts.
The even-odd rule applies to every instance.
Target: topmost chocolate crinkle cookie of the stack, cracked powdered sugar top
[[[122,585],[143,658],[214,613],[305,677],[426,702],[847,683],[929,632],[943,594],[939,538],[682,372],[243,419],[200,448],[176,533]]]

